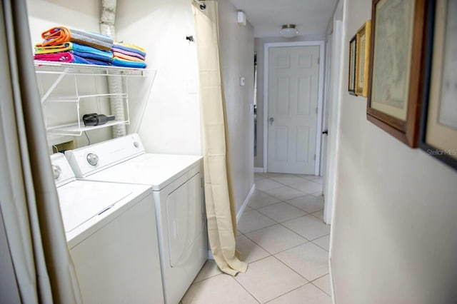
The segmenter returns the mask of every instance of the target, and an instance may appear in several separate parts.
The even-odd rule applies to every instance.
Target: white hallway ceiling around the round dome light
[[[337,0],[229,0],[246,14],[254,36],[279,36],[283,24],[296,24],[298,35],[325,34]]]

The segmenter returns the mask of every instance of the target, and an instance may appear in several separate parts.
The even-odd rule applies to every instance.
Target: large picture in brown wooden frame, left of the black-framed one
[[[367,119],[418,146],[426,0],[373,0]]]

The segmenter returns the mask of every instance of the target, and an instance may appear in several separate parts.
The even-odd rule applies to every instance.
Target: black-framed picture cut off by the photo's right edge
[[[431,3],[419,146],[457,170],[457,1]]]

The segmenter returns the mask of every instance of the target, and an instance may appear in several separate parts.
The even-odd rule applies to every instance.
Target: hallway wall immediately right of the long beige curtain
[[[237,24],[237,11],[229,1],[219,1],[220,55],[238,213],[253,186],[254,35],[248,22]],[[246,79],[244,86],[239,85],[240,77]]]

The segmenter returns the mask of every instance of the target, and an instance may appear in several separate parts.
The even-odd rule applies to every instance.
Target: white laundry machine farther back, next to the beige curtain
[[[206,261],[202,157],[146,153],[137,134],[66,151],[78,178],[152,187],[165,303],[177,304]]]

